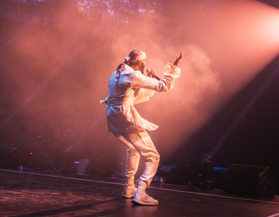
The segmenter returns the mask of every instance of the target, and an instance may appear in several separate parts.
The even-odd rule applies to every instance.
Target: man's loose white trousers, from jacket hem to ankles
[[[128,133],[113,133],[124,145],[128,146],[126,162],[126,179],[134,180],[134,175],[139,166],[140,156],[144,159],[143,174],[140,180],[150,185],[156,174],[160,155],[157,152],[147,132],[138,130]]]

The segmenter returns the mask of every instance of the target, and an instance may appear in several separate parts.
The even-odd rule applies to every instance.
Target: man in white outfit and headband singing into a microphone
[[[146,54],[133,50],[125,58],[109,80],[108,98],[101,100],[106,103],[108,130],[128,147],[126,162],[126,182],[122,196],[131,198],[133,204],[158,205],[158,200],[145,193],[154,177],[158,164],[159,153],[146,130],[156,130],[157,125],[143,119],[134,104],[148,101],[155,91],[167,92],[174,87],[174,79],[180,75],[177,67],[183,52],[174,64],[167,63],[161,80],[154,79],[155,71],[151,70],[144,76]],[[144,171],[140,176],[137,188],[134,175],[137,172],[140,157],[144,159]]]

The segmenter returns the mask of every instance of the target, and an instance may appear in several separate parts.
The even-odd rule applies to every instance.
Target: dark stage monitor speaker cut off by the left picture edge
[[[4,168],[17,168],[25,166],[27,159],[17,147],[0,146],[0,166]]]

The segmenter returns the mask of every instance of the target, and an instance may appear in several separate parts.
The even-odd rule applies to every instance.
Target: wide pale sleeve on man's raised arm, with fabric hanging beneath
[[[180,75],[180,69],[170,63],[164,68],[164,76],[161,80],[144,76],[140,71],[135,71],[131,83],[132,88],[140,88],[134,104],[149,101],[149,97],[156,92],[167,92],[174,87],[174,79]]]

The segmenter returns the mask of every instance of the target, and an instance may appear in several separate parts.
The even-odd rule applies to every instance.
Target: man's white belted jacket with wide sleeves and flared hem
[[[155,91],[167,92],[174,87],[174,79],[180,75],[180,69],[170,63],[164,68],[161,80],[144,76],[140,71],[133,70],[124,64],[118,82],[116,72],[109,80],[106,116],[110,132],[133,132],[146,129],[156,130],[157,125],[143,119],[134,104],[149,101]]]

